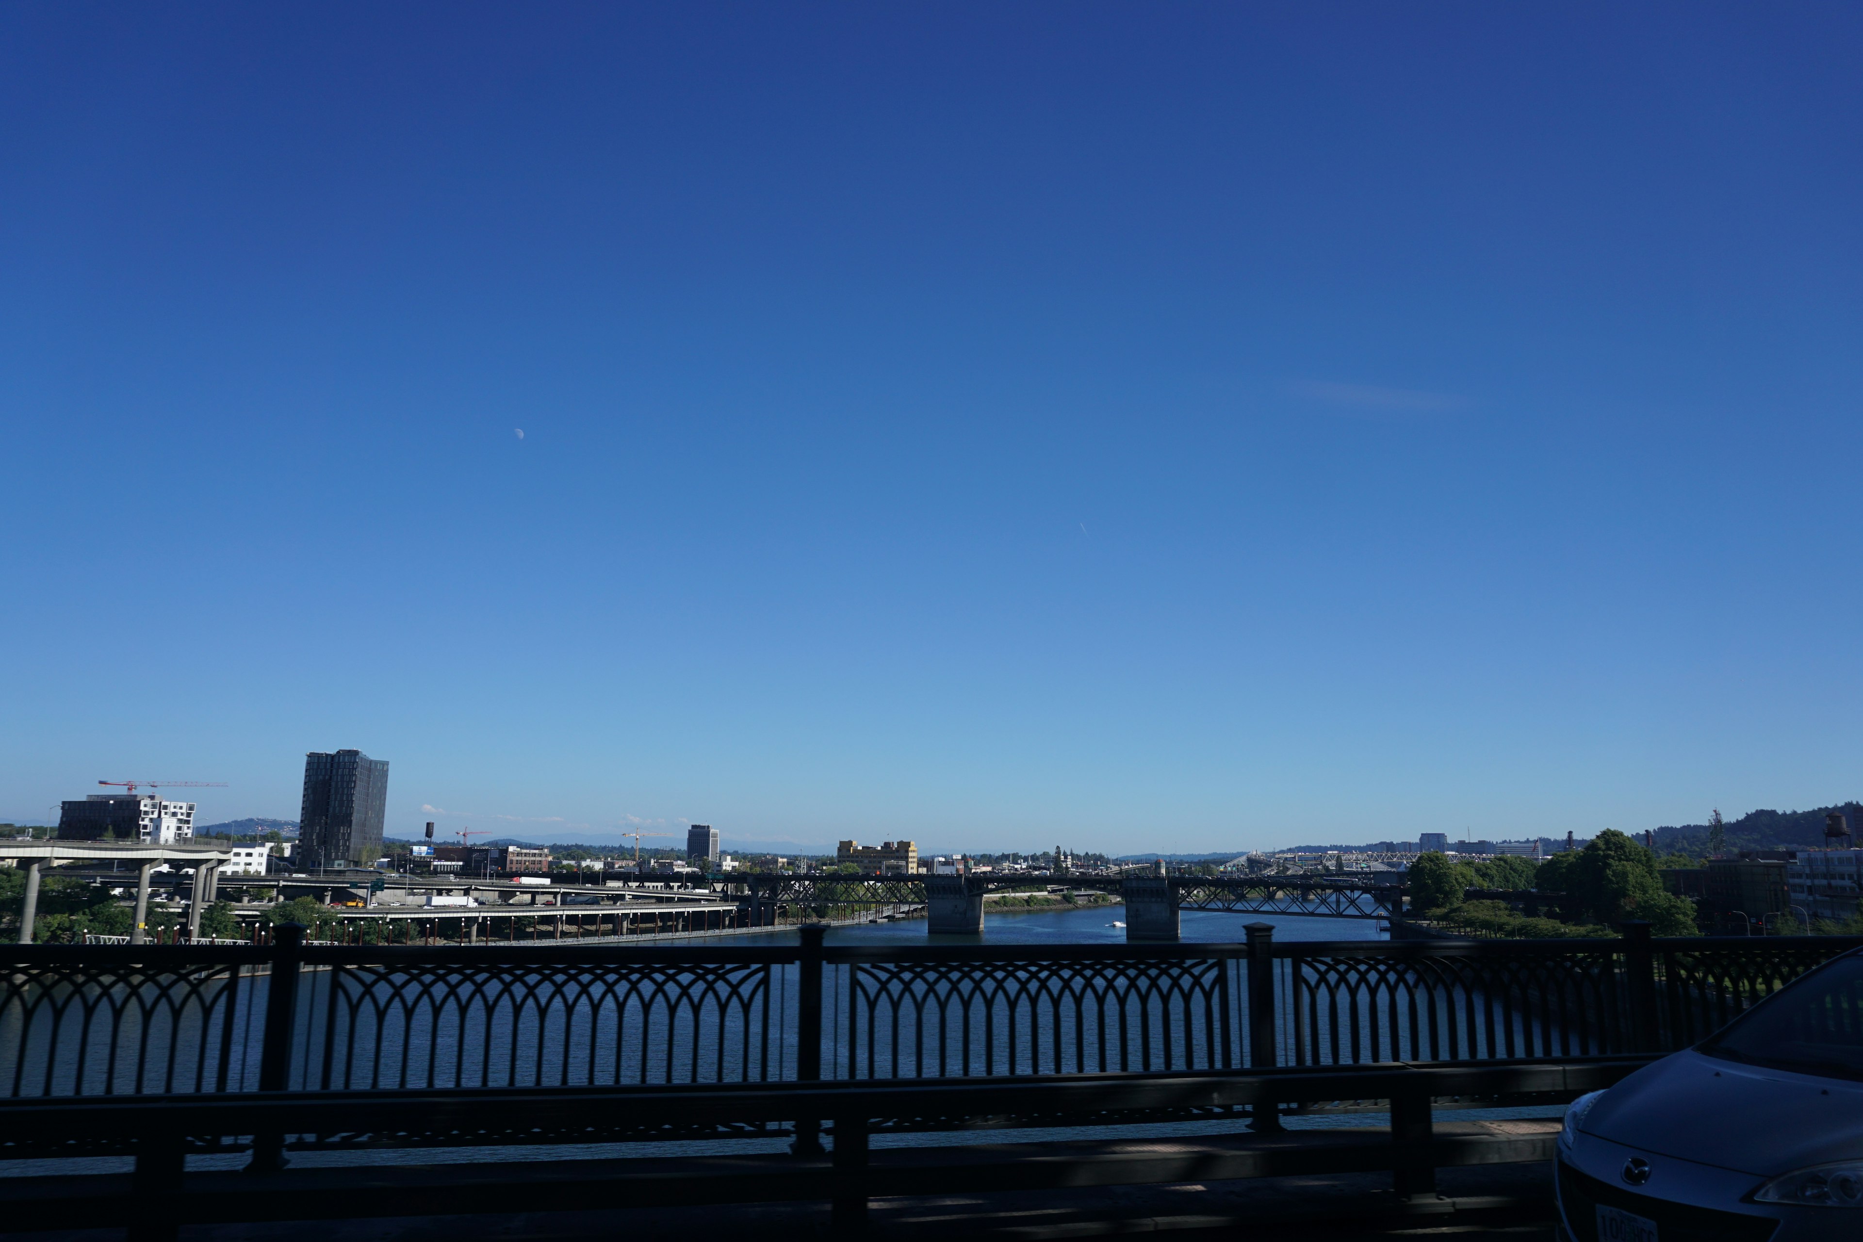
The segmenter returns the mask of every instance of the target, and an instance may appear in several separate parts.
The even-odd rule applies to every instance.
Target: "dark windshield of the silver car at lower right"
[[[1863,957],[1813,970],[1699,1050],[1747,1065],[1863,1078]]]

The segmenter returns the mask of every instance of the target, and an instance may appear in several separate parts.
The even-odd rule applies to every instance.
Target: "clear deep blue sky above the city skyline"
[[[0,817],[294,817],[337,747],[391,834],[546,840],[1857,797],[1859,54],[1818,4],[13,6]]]

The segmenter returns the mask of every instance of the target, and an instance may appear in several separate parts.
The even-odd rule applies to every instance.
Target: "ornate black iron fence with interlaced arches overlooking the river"
[[[9,946],[9,1097],[1559,1060],[1686,1046],[1863,938]]]

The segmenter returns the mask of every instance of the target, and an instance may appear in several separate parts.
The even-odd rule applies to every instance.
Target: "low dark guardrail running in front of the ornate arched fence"
[[[831,1201],[836,1235],[863,1231],[872,1195],[1228,1181],[1330,1171],[1395,1173],[1399,1197],[1431,1199],[1442,1166],[1544,1160],[1554,1134],[1435,1130],[1438,1097],[1567,1100],[1606,1087],[1649,1058],[1561,1063],[1364,1065],[1328,1071],[1047,1076],[997,1080],[686,1084],[471,1091],[255,1091],[117,1099],[0,1100],[0,1156],[132,1154],[130,1179],[0,1179],[0,1231],[129,1225],[132,1242],[171,1240],[186,1222],[333,1220],[510,1210],[512,1203],[630,1207]],[[995,1125],[1004,1114],[1047,1125],[1133,1115],[1278,1115],[1341,1095],[1392,1100],[1384,1130],[1211,1134],[1170,1145],[1077,1141],[898,1147],[900,1128]],[[814,1140],[831,1123],[833,1154]],[[658,1136],[794,1134],[792,1154],[676,1160],[520,1160],[507,1164],[285,1169],[283,1149],[591,1143],[633,1127]],[[1272,1127],[1269,1127],[1272,1130]],[[289,1141],[287,1141],[289,1140]],[[252,1151],[246,1171],[186,1168],[194,1153]],[[544,1199],[538,1203],[538,1199]]]

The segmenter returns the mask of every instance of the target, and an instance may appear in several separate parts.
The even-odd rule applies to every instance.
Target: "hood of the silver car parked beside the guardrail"
[[[1598,1097],[1584,1134],[1759,1177],[1863,1158],[1863,1084],[1677,1052]]]

